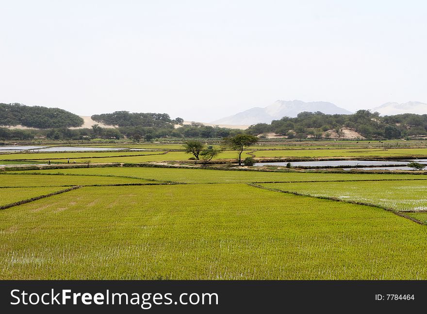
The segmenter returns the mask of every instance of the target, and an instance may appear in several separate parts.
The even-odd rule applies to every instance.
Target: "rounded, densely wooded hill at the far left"
[[[0,103],[0,126],[23,125],[30,128],[80,127],[83,119],[64,109]]]

